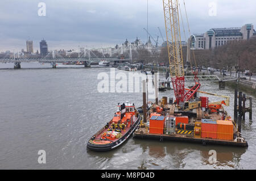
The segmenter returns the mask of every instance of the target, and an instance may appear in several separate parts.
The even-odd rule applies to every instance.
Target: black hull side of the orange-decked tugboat
[[[107,144],[107,145],[95,145],[95,144],[91,144],[88,141],[86,146],[87,149],[90,149],[93,151],[110,151],[115,148],[118,148],[123,144],[123,142],[128,140],[128,138],[134,133],[134,131],[138,128],[140,121],[141,121],[141,115],[138,114],[138,119],[135,121],[131,129],[127,131],[119,140],[112,142],[112,144]]]

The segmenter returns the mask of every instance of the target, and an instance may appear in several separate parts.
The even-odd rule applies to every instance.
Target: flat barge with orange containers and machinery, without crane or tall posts
[[[196,109],[180,111],[175,103],[167,104],[167,98],[163,97],[159,104],[152,104],[134,138],[247,147],[247,141],[223,106],[212,112],[209,107],[201,107],[201,99],[205,97],[200,98]]]

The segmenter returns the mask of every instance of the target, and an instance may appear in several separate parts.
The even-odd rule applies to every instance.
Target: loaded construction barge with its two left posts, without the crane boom
[[[156,85],[158,85],[157,81],[155,76]],[[195,87],[191,90],[195,90]],[[208,96],[199,96],[199,94],[217,96],[222,100],[210,102]],[[146,81],[143,81],[143,106],[139,111],[143,119],[133,137],[194,142],[203,145],[248,146],[245,138],[241,136],[241,121],[237,124],[237,120],[233,120],[224,109],[224,106],[229,106],[229,96],[198,89],[193,91],[192,95],[189,101],[179,104],[177,99],[174,101],[173,98],[169,98],[167,102],[167,97],[158,101],[158,87],[155,86],[155,103],[148,104]]]

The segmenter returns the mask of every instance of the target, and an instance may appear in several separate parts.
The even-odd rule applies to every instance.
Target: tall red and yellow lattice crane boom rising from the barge
[[[172,85],[174,87],[176,103],[183,107],[182,105],[193,98],[193,95],[195,95],[201,85],[195,73],[195,86],[189,91],[185,91],[178,1],[163,0],[163,9]]]

